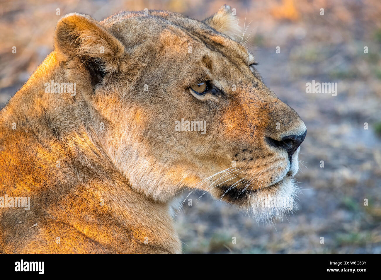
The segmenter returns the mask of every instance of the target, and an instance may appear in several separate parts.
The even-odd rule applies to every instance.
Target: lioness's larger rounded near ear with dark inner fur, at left
[[[95,19],[78,13],[67,14],[58,21],[54,48],[59,60],[96,61],[97,68],[106,72],[123,70],[123,62],[128,58],[114,35]]]

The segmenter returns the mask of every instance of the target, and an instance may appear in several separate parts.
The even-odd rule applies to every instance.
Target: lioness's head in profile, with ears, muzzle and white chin
[[[306,126],[264,85],[236,23],[228,6],[203,22],[164,11],[118,13],[100,24],[73,14],[58,24],[56,51],[83,65],[90,43],[93,52],[104,46],[85,67],[85,99],[102,146],[132,187],[162,202],[201,189],[258,218],[285,210],[264,198],[292,200]],[[73,38],[78,26],[91,42]],[[105,33],[99,42],[96,28]],[[78,55],[66,50],[73,40]]]

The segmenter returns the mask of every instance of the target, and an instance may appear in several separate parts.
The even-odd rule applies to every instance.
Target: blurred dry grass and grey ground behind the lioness
[[[247,46],[266,85],[306,123],[296,176],[299,209],[275,224],[257,224],[234,207],[208,195],[196,201],[202,193],[193,194],[193,206],[185,203],[176,216],[184,253],[381,253],[379,0],[2,0],[0,108],[53,50],[64,14],[100,21],[148,8],[202,20],[224,4],[248,27]],[[337,96],[306,93],[312,80],[337,82]]]

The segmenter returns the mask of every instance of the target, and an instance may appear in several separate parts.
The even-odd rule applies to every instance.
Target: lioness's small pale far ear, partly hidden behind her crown
[[[223,33],[232,39],[236,40],[240,33],[240,27],[238,26],[238,18],[235,16],[228,5],[224,5],[219,8],[218,12],[211,17],[204,19],[203,22],[212,27],[216,31]]]

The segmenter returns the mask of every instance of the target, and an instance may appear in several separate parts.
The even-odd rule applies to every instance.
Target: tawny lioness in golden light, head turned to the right
[[[261,198],[293,196],[306,126],[237,30],[229,6],[61,18],[1,111],[0,252],[181,253],[185,189],[280,214]]]

